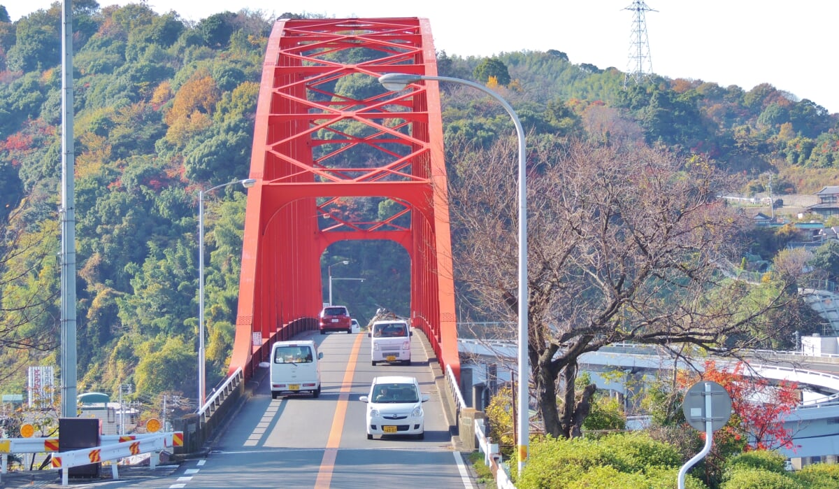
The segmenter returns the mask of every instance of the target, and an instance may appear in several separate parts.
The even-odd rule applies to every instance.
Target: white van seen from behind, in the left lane
[[[320,396],[320,361],[311,340],[278,341],[271,348],[271,397],[311,392]]]

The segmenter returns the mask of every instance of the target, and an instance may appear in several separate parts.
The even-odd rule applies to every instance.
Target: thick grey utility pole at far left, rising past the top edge
[[[62,9],[61,60],[61,417],[76,418],[76,203],[73,182],[73,16]]]

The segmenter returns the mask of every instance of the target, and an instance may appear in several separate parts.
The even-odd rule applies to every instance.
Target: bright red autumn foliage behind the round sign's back
[[[799,402],[798,385],[750,375],[748,365],[717,366],[706,360],[699,376],[681,371],[677,378],[687,389],[697,381],[714,381],[732,397],[732,417],[715,436],[722,445],[742,445],[743,450],[795,449],[792,433],[784,429],[784,418]]]

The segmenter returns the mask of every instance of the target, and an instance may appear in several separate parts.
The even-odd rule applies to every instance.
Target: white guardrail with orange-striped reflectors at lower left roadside
[[[119,460],[133,455],[158,452],[167,448],[181,446],[184,433],[170,431],[150,434],[111,434],[100,437],[101,446],[61,452],[57,438],[4,438],[0,439],[0,455],[3,467],[0,473],[7,473],[9,454],[52,454],[52,467],[61,471],[61,485],[68,485],[71,467],[90,465],[108,460]],[[155,457],[149,459],[149,465],[157,465]],[[111,464],[113,480],[119,479],[117,464]]]

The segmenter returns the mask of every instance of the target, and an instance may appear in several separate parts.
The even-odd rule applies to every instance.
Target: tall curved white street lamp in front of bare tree
[[[498,100],[503,108],[513,118],[513,124],[516,126],[516,135],[519,137],[519,415],[517,420],[517,431],[519,433],[519,475],[524,467],[524,460],[527,459],[528,445],[529,445],[529,396],[528,396],[528,379],[529,379],[529,365],[527,356],[528,346],[528,290],[527,290],[527,174],[526,174],[526,155],[524,152],[524,129],[522,129],[519,116],[513,110],[513,107],[507,103],[496,92],[484,87],[474,81],[461,80],[460,78],[451,78],[449,76],[425,76],[425,75],[410,75],[408,73],[388,73],[378,77],[379,83],[383,87],[393,92],[403,90],[409,83],[415,81],[451,81],[452,83],[460,83],[469,87],[477,88],[481,92],[487,93],[490,97]]]

